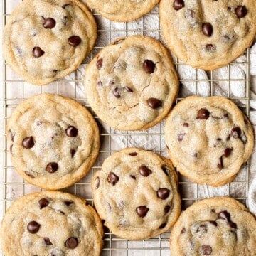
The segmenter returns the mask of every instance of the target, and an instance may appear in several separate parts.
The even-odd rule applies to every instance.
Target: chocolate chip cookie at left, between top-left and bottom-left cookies
[[[18,105],[7,123],[11,161],[33,185],[59,189],[73,185],[94,163],[99,129],[75,100],[42,94]]]

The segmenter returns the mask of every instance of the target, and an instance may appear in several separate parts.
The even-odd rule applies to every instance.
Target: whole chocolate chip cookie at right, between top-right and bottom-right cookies
[[[191,96],[166,120],[165,139],[177,170],[196,183],[233,181],[253,148],[252,126],[225,97]]]

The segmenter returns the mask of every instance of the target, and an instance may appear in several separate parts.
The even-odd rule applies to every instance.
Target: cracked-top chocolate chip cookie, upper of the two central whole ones
[[[178,77],[169,52],[153,38],[119,38],[85,70],[85,91],[102,121],[122,130],[147,129],[171,109]]]

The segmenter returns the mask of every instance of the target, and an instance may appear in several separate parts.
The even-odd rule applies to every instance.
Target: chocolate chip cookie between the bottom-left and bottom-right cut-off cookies
[[[166,232],[181,212],[174,167],[150,151],[127,148],[109,156],[92,178],[93,200],[107,228],[140,240]]]

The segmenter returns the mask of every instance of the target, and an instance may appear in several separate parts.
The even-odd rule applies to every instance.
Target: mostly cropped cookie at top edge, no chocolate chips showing
[[[111,21],[134,21],[151,11],[159,0],[86,0],[90,8]]]

